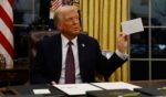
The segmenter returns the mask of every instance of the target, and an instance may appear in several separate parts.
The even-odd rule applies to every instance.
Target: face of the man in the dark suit
[[[80,33],[80,20],[79,13],[75,11],[69,11],[61,14],[61,30],[65,36],[76,36]]]

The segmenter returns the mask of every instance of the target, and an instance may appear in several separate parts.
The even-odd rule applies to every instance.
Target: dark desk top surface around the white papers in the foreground
[[[138,85],[141,87],[152,87],[152,88],[158,88],[166,86],[165,80],[159,82],[129,82],[131,84]],[[48,86],[48,85],[29,85],[29,86],[9,86],[7,87],[11,90],[14,90],[18,93],[18,95],[21,95],[21,97],[68,97],[65,93],[61,91],[60,89]],[[50,95],[34,95],[33,89],[41,89],[41,88],[48,88],[51,94]],[[30,96],[31,95],[31,96]],[[12,96],[11,96],[12,97]],[[18,96],[17,96],[18,97]],[[86,96],[76,96],[76,97],[86,97]]]

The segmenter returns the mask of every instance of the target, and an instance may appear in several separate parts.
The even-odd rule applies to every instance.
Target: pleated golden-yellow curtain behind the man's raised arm
[[[80,0],[82,29],[98,40],[102,50],[115,51],[121,22],[127,20],[127,4],[128,0]],[[127,82],[127,63],[120,67],[110,80]]]

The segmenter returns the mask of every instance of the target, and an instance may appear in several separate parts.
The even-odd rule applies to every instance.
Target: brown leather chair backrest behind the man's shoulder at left
[[[29,33],[29,57],[30,63],[34,61],[37,54],[37,46],[40,41],[45,37],[58,34],[58,31],[30,31]]]

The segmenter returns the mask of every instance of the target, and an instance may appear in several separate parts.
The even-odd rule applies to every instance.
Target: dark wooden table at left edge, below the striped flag
[[[0,69],[0,87],[11,85],[23,85],[29,79],[29,68],[14,67],[12,69]]]

